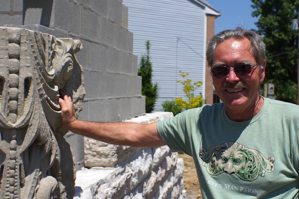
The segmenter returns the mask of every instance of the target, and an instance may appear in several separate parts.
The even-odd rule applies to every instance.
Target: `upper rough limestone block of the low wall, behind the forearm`
[[[155,112],[134,117],[124,122],[152,123],[173,117],[171,112]],[[142,153],[142,148],[107,144],[84,137],[85,167],[115,167]],[[156,160],[155,160],[156,161]]]

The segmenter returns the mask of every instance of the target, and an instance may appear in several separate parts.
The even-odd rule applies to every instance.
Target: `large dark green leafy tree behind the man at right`
[[[265,83],[275,84],[279,100],[297,102],[298,31],[292,30],[299,0],[251,0],[256,26],[266,44]]]

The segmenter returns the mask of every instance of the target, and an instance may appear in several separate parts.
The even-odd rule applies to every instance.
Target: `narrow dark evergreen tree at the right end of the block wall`
[[[138,75],[142,77],[142,95],[146,96],[146,112],[151,112],[158,97],[158,85],[151,83],[150,42],[146,41],[147,54],[140,59]]]

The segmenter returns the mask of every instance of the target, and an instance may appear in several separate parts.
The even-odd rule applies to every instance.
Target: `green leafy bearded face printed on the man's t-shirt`
[[[211,146],[208,150],[201,148],[198,158],[210,175],[217,176],[226,172],[235,174],[241,180],[254,181],[266,172],[273,172],[275,158],[266,158],[259,151],[247,148],[237,142]]]

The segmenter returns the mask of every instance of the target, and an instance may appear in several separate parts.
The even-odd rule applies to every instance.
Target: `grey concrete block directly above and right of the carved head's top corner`
[[[100,40],[100,16],[86,7],[82,8],[80,33],[89,39]]]

